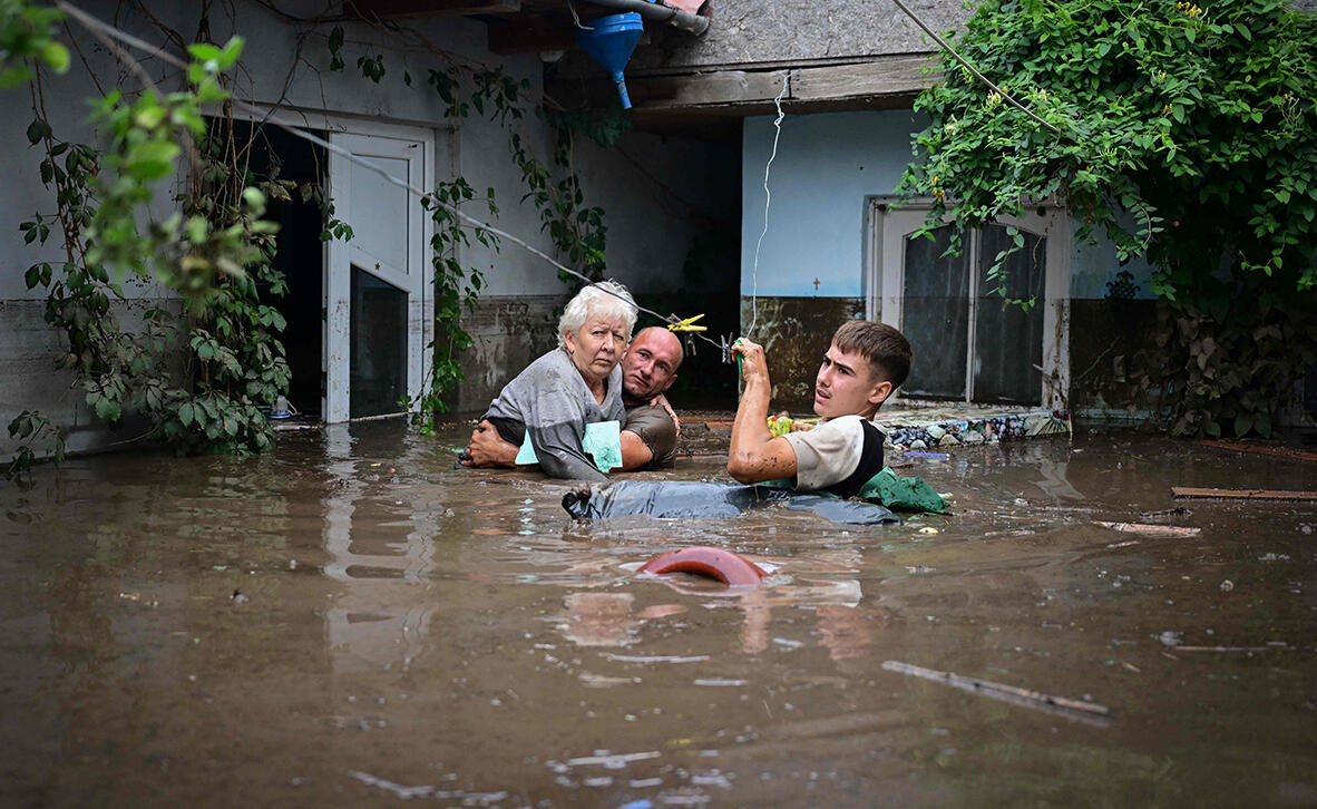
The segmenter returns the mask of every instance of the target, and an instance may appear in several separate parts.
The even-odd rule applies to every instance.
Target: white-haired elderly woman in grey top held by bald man
[[[471,435],[485,430],[520,447],[529,436],[540,469],[552,477],[608,480],[582,448],[586,424],[626,420],[622,369],[636,304],[620,283],[577,293],[558,320],[558,347],[531,362],[490,403]],[[481,465],[466,460],[466,465]]]

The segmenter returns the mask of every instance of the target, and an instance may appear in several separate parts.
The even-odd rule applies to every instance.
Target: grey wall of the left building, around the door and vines
[[[80,5],[104,20],[115,20],[119,26],[149,42],[174,50],[159,29],[125,11],[126,7],[109,1]],[[163,0],[146,5],[186,41],[196,38],[196,5]],[[525,187],[508,153],[508,132],[475,113],[457,129],[449,129],[443,119],[443,101],[425,84],[427,69],[439,67],[443,61],[423,47],[419,38],[458,59],[491,67],[500,65],[512,76],[529,80],[528,101],[532,104],[541,92],[543,67],[537,57],[487,53],[483,25],[461,17],[406,20],[403,32],[344,22],[346,41],[342,54],[348,67],[342,72],[331,72],[327,40],[332,24],[296,26],[265,5],[246,0],[236,4],[236,14],[230,20],[225,8],[228,4],[215,7],[211,38],[224,42],[234,32],[246,38],[237,72],[240,98],[278,104],[281,115],[291,115],[315,129],[350,130],[354,121],[373,126],[402,124],[433,129],[439,144],[436,153],[443,161],[437,166],[439,179],[461,174],[478,190],[493,186],[500,206],[497,224],[551,254],[554,252],[540,229],[539,213],[529,202],[522,202]],[[312,17],[323,12],[324,4],[307,0],[300,4],[282,3],[279,8],[288,14]],[[92,66],[101,87],[113,86],[116,79],[129,88],[137,86],[104,47],[78,25],[71,28],[78,50]],[[299,30],[306,33],[300,49]],[[419,38],[407,33],[412,30]],[[99,91],[82,67],[78,50],[68,75],[47,79],[46,108],[59,137],[94,141],[95,133],[86,124],[83,99],[97,96]],[[357,57],[365,53],[385,57],[387,72],[378,84],[362,78],[356,67]],[[146,59],[145,66],[163,79],[166,88],[176,86],[176,76],[158,61]],[[403,82],[404,71],[411,75],[410,87]],[[54,357],[63,350],[63,337],[42,323],[41,290],[28,291],[22,282],[30,264],[61,258],[55,246],[42,253],[24,245],[17,231],[18,223],[30,217],[33,211],[51,212],[54,203],[49,190],[40,183],[37,165],[41,157],[28,149],[25,129],[32,120],[28,91],[12,90],[4,98],[12,112],[0,120],[0,148],[11,155],[3,169],[4,184],[0,186],[0,256],[5,257],[0,264],[0,456],[7,456],[14,447],[3,427],[24,408],[41,408],[65,426],[88,427],[74,435],[71,447],[75,451],[96,448],[105,443],[104,431],[82,404],[82,391],[70,390],[71,377],[53,370]],[[548,163],[552,155],[548,128],[533,113],[520,126],[535,153]],[[672,286],[680,278],[694,236],[711,221],[718,221],[718,216],[736,209],[736,152],[735,145],[719,146],[639,133],[628,134],[619,148],[608,150],[578,144],[574,161],[582,177],[586,204],[598,204],[606,211],[610,274],[640,293],[658,293]],[[171,196],[171,190],[165,186],[162,183],[162,199]],[[163,212],[166,206],[157,208]],[[552,266],[512,244],[506,242],[498,252],[477,244],[464,260],[485,269],[486,295],[491,311],[499,312],[495,319],[486,314],[473,316],[473,328],[481,340],[477,354],[491,368],[481,368],[474,378],[482,382],[473,383],[475,390],[460,398],[469,403],[464,404],[465,410],[478,411],[487,403],[489,390],[497,390],[499,379],[511,378],[525,356],[533,356],[529,352],[539,344],[531,335],[543,331],[541,321],[548,321],[553,310],[548,302],[561,298],[565,287]],[[727,267],[727,271],[734,274],[736,269]],[[116,304],[116,310],[125,314],[151,300],[169,298],[166,291],[149,283],[130,285],[128,293],[138,303]],[[510,302],[523,296],[529,296],[528,306],[510,306]],[[497,325],[486,328],[491,323]]]

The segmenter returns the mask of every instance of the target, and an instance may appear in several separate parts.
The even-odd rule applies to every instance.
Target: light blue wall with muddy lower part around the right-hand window
[[[809,411],[807,386],[813,379],[818,352],[846,316],[863,316],[868,290],[865,256],[869,207],[874,196],[892,195],[901,173],[910,162],[911,136],[923,119],[910,111],[843,112],[788,116],[773,159],[769,188],[772,206],[768,233],[760,250],[757,283],[755,244],[764,228],[764,167],[773,145],[773,119],[745,121],[741,154],[741,328],[755,321],[753,336],[776,345],[773,378],[774,407]],[[1119,402],[1118,373],[1110,365],[1112,320],[1104,300],[1106,283],[1122,267],[1115,250],[1105,238],[1085,244],[1072,237],[1067,257],[1072,311],[1083,315],[1067,320],[1069,366],[1084,378],[1076,385],[1108,390],[1083,403],[1109,407]],[[1150,270],[1146,264],[1127,267],[1148,298]],[[818,287],[815,287],[815,281]],[[752,294],[757,290],[757,299]],[[813,300],[813,304],[810,303]],[[1147,303],[1141,302],[1141,303]],[[1146,306],[1137,307],[1139,312]],[[757,310],[757,320],[755,311]],[[827,318],[819,319],[824,312]],[[1106,365],[1102,365],[1106,362]],[[1108,373],[1110,372],[1110,373]],[[1106,374],[1105,377],[1102,374]],[[1110,378],[1108,378],[1110,377]],[[1108,385],[1112,382],[1113,385]],[[1118,386],[1118,385],[1117,385]],[[1072,390],[1076,390],[1072,386]]]

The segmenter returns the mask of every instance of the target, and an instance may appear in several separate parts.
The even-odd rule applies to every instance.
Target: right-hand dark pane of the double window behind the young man
[[[1025,232],[1025,246],[1004,266],[1006,298],[1034,299],[1029,311],[1006,303],[998,282],[988,278],[997,253],[1011,244],[1006,228],[990,225],[980,235],[979,314],[975,318],[975,401],[1038,404],[1043,374],[1043,279],[1047,240]]]

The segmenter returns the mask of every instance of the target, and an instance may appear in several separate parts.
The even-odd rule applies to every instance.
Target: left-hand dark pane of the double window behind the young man
[[[905,241],[905,300],[901,331],[910,340],[914,365],[902,386],[906,395],[965,398],[965,354],[969,343],[969,260],[943,256],[951,227],[934,238]]]

